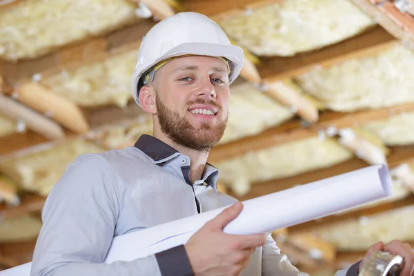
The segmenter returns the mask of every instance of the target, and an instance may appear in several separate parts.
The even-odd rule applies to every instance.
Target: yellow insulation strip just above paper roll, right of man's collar
[[[217,164],[217,168],[221,181],[232,186],[239,177],[245,177],[250,183],[280,179],[333,166],[352,157],[353,152],[339,145],[335,139],[312,137],[229,159]]]

